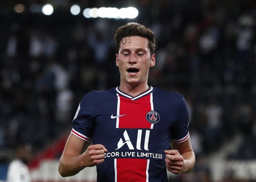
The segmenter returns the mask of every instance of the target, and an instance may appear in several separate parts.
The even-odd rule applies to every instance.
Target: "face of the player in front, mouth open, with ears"
[[[147,38],[139,36],[122,39],[119,52],[116,54],[121,84],[147,84],[149,69],[155,65],[155,54],[150,56],[148,44]]]

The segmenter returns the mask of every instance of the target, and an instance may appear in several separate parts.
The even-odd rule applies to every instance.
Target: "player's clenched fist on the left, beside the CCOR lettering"
[[[92,167],[104,162],[104,153],[107,149],[101,144],[90,145],[81,155],[81,164],[84,167]]]

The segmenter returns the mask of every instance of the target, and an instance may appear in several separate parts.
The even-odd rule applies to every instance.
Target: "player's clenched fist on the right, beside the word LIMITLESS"
[[[165,151],[165,162],[166,162],[166,168],[169,172],[172,172],[173,174],[180,174],[182,173],[182,167],[183,167],[183,157],[181,154],[179,154],[179,151],[177,150],[168,150]]]

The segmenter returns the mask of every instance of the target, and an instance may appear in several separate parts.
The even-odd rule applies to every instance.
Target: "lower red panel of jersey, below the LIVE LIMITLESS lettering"
[[[146,159],[117,159],[117,182],[146,182]]]

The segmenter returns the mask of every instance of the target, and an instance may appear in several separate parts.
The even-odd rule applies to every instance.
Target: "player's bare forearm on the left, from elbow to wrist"
[[[76,175],[85,168],[80,161],[80,156],[62,155],[59,161],[59,174],[62,177]]]

